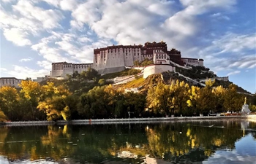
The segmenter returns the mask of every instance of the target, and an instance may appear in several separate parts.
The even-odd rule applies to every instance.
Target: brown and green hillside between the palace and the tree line
[[[75,73],[68,77],[68,79],[57,80],[57,79],[48,79],[48,82],[54,82],[56,86],[65,85],[69,88],[72,93],[78,95],[86,93],[95,86],[108,85],[113,82],[113,79],[116,77],[126,77],[134,75],[134,80],[127,83],[116,85],[116,87],[129,88],[138,88],[140,92],[146,92],[149,87],[156,85],[158,82],[163,82],[167,85],[170,85],[171,82],[184,81],[190,86],[195,85],[197,87],[204,87],[205,84],[202,82],[202,79],[215,78],[217,77],[213,71],[203,66],[189,66],[184,68],[182,66],[176,65],[176,72],[165,71],[162,74],[153,74],[146,79],[143,79],[142,76],[138,77],[140,70],[137,69],[125,69],[124,71],[104,74],[100,76],[97,74],[97,71],[91,69],[90,71],[85,71],[81,74]],[[109,80],[112,79],[112,80]],[[41,82],[41,85],[45,85],[46,82]],[[214,87],[222,85],[222,87],[227,88],[233,82],[215,80]],[[239,93],[250,94],[247,90],[244,90],[242,87],[237,86]]]

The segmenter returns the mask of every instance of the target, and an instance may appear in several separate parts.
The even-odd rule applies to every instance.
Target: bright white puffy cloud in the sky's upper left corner
[[[61,28],[59,21],[63,19],[57,9],[42,9],[34,1],[20,0],[12,5],[8,12],[0,9],[0,28],[7,40],[18,46],[31,44],[31,36],[53,28]]]

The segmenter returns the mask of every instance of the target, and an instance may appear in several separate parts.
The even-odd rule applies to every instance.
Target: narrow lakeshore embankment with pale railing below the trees
[[[121,118],[121,119],[90,119],[90,120],[58,120],[58,121],[20,121],[0,122],[0,126],[38,126],[38,125],[99,125],[99,124],[127,124],[127,123],[154,123],[206,120],[248,120],[256,122],[256,114],[244,116],[204,116],[204,117],[148,117],[148,118]]]

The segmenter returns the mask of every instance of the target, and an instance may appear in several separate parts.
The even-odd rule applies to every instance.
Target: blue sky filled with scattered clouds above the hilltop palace
[[[256,92],[255,0],[0,0],[0,77],[92,63],[93,50],[160,42]]]

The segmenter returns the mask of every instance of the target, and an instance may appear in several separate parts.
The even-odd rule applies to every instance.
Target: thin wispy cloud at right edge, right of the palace
[[[199,51],[200,58],[213,71],[253,69],[256,67],[256,34],[227,33]]]

